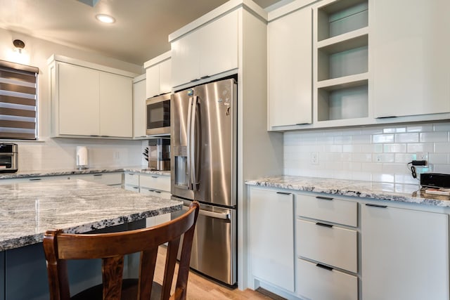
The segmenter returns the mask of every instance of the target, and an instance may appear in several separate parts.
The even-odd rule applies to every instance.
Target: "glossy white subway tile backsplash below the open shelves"
[[[450,173],[450,122],[284,133],[284,174],[418,184],[408,162],[428,152],[424,172]],[[425,153],[427,154],[427,153]]]

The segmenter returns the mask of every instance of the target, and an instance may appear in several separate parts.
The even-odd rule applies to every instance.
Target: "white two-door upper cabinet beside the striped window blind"
[[[49,70],[53,136],[133,136],[134,74],[64,56]]]

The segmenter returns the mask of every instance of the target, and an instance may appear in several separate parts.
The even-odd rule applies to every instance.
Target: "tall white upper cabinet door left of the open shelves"
[[[269,23],[269,129],[312,122],[312,12]]]

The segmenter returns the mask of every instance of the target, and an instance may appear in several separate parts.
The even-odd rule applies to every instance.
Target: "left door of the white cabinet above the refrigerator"
[[[197,79],[200,73],[200,30],[189,32],[184,37],[173,41],[172,49],[172,84],[179,86]]]

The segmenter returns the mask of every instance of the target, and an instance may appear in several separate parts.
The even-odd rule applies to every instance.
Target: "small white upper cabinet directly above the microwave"
[[[172,91],[170,51],[144,63],[146,69],[146,98]]]

